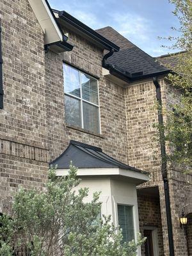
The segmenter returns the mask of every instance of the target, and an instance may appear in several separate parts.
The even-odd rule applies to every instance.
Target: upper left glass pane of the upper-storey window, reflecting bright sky
[[[68,65],[63,65],[64,91],[80,97],[79,71]]]

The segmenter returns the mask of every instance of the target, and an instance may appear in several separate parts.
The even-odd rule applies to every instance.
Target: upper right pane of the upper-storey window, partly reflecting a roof
[[[83,99],[98,104],[97,79],[81,73],[81,85]]]

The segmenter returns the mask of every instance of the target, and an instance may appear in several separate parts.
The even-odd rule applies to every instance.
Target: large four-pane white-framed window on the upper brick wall
[[[63,77],[66,123],[86,131],[100,133],[97,79],[65,63]]]

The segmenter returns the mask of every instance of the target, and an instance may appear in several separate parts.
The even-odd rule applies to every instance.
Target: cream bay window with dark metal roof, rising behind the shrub
[[[68,148],[51,164],[58,165],[58,176],[65,176],[70,161],[77,166],[77,176],[81,178],[77,189],[89,188],[87,201],[92,200],[95,191],[100,191],[100,213],[111,215],[116,227],[120,225],[124,241],[136,239],[140,231],[136,186],[148,180],[147,173],[104,154],[99,147],[78,141],[70,141]]]

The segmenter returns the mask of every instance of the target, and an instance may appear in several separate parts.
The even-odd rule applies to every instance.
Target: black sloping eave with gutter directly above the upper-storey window
[[[102,49],[106,49],[108,51],[113,49],[115,52],[119,51],[120,48],[115,43],[100,35],[99,33],[97,33],[97,31],[93,30],[92,28],[86,26],[86,24],[84,24],[80,20],[77,20],[69,13],[58,10],[53,10],[53,12],[56,13],[56,17],[58,17],[57,20],[61,25],[73,29],[74,31],[76,31],[76,33],[83,35],[85,38],[87,38],[94,44],[102,47]]]

